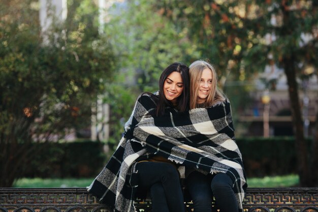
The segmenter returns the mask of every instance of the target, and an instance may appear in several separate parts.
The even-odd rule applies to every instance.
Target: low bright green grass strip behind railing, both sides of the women
[[[70,188],[87,187],[93,178],[22,178],[15,181],[14,188]],[[298,175],[266,176],[264,178],[247,178],[249,188],[295,187],[299,184]]]

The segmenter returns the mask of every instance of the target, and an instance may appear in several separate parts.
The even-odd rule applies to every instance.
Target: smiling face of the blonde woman
[[[206,102],[212,88],[212,71],[208,68],[204,69],[201,74],[198,92],[198,104]]]

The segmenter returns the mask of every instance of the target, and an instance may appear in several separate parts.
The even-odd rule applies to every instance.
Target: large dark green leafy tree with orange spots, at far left
[[[90,122],[91,102],[116,62],[108,39],[78,13],[68,17],[72,25],[53,27],[44,45],[38,8],[32,0],[0,6],[0,187],[23,175],[41,153],[37,142]],[[85,14],[91,23],[93,11]]]

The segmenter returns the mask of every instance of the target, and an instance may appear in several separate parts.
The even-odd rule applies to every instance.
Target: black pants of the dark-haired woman
[[[140,162],[137,164],[142,190],[149,190],[153,212],[185,212],[179,174],[169,163]]]

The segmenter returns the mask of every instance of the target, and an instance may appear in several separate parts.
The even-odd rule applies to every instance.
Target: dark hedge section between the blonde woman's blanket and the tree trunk
[[[308,147],[310,140],[307,140]],[[297,173],[295,138],[237,138],[247,177]]]

